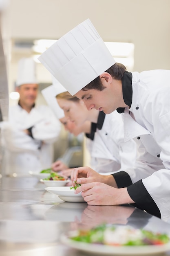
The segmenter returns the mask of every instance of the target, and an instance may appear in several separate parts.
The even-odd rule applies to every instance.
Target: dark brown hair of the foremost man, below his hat
[[[113,77],[113,79],[121,80],[122,77],[124,76],[125,70],[126,70],[126,67],[123,64],[115,63],[113,66],[109,67],[108,70],[106,70],[105,72],[109,73]],[[90,83],[88,83],[88,85],[82,88],[83,91],[91,90],[91,89],[95,89],[99,91],[104,90],[104,86],[102,85],[102,82],[99,76],[97,76],[93,81],[91,81]]]

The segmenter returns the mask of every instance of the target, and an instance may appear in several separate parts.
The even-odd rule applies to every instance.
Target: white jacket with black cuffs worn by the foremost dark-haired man
[[[139,157],[126,170],[126,181],[116,173],[119,187],[128,186],[139,208],[170,218],[170,71],[132,72],[132,104],[124,115],[125,141],[136,139]],[[128,175],[133,183],[128,184]],[[125,179],[124,179],[125,180]],[[158,213],[157,209],[160,213]],[[161,216],[159,216],[161,214]]]

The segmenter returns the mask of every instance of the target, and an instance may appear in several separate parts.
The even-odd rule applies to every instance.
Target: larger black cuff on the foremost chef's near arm
[[[161,213],[157,204],[152,199],[148,191],[146,190],[142,180],[135,182],[127,187],[130,198],[137,204],[139,209],[143,209],[158,218],[161,218]]]

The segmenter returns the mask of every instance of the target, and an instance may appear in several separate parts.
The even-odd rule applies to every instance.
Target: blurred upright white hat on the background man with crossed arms
[[[29,83],[38,83],[33,58],[21,58],[18,62],[18,76],[16,86]]]

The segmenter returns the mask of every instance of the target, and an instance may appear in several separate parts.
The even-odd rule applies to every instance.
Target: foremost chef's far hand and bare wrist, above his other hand
[[[71,181],[73,182],[73,186],[75,186],[75,182],[77,184],[102,182],[110,186],[117,187],[113,175],[101,175],[94,171],[93,169],[91,169],[90,167],[74,168],[71,172]]]

